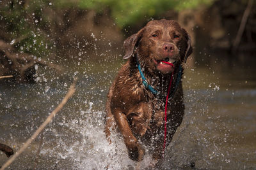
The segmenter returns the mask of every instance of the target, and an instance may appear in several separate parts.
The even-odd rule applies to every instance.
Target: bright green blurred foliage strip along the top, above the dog
[[[161,15],[165,11],[181,11],[209,5],[214,0],[77,0],[79,8],[88,10],[104,10],[109,8],[111,15],[119,27],[132,25],[143,18]],[[59,4],[70,4],[70,1],[58,1]]]

